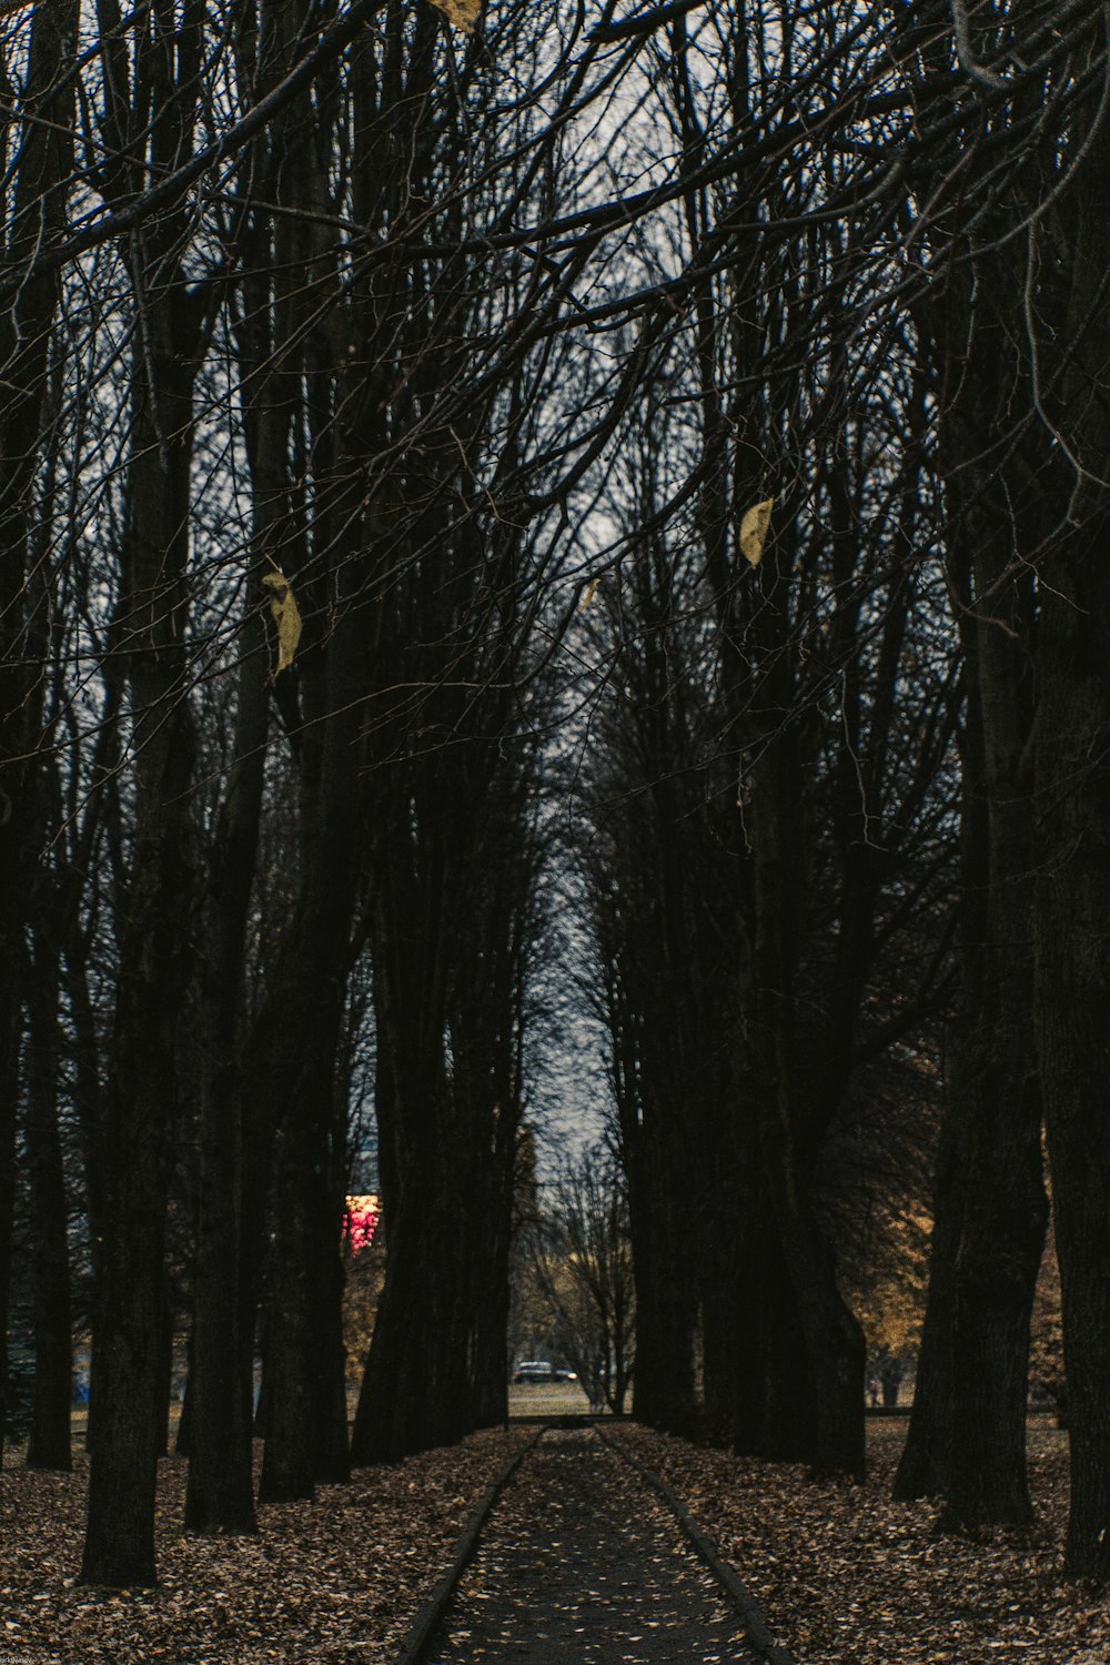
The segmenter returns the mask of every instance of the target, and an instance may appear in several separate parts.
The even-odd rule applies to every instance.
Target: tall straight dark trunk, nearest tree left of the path
[[[145,275],[135,280],[141,286]],[[105,1585],[155,1582],[155,1479],[166,1430],[168,1136],[195,914],[193,733],[181,638],[196,345],[190,321],[181,291],[148,301],[135,373],[121,608],[135,709],[135,852],[116,927],[92,1364],[97,1422],[82,1563],[85,1583]]]

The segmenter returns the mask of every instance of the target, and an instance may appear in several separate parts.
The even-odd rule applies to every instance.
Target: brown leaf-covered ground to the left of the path
[[[181,1530],[185,1462],[158,1479],[156,1590],[77,1583],[85,1465],[0,1474],[0,1662],[376,1665],[394,1660],[463,1528],[529,1429],[478,1434],[260,1510],[256,1538]],[[18,1462],[18,1459],[17,1459]]]

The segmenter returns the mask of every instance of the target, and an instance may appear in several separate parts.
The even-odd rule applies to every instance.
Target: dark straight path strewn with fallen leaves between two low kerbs
[[[486,1523],[433,1665],[759,1665],[739,1615],[639,1475],[553,1430]]]

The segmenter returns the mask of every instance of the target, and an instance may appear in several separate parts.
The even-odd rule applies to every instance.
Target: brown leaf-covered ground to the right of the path
[[[864,1485],[617,1435],[671,1482],[802,1665],[1107,1665],[1110,1603],[1065,1585],[1067,1435],[1030,1424],[1038,1523],[989,1542],[939,1537],[937,1507],[890,1502],[905,1422],[869,1424]]]

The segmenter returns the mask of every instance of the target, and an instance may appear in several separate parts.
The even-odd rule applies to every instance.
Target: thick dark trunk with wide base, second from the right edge
[[[924,1369],[897,1492],[944,1494],[942,1523],[954,1528],[1032,1518],[1028,1330],[1047,1222],[1033,1046],[1033,598],[1020,558],[1050,518],[1043,488],[1028,496],[1032,460],[1008,440],[999,456],[992,450],[1003,413],[1028,398],[1028,368],[1005,328],[1007,281],[987,260],[979,283],[990,301],[972,305],[967,280],[954,276],[937,313],[952,388],[940,440],[965,683],[962,1011]]]

